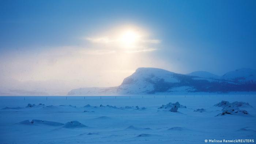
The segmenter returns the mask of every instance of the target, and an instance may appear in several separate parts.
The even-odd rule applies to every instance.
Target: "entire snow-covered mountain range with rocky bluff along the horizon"
[[[200,73],[202,73],[202,76]],[[218,77],[208,72],[194,72],[192,75],[183,75],[159,68],[138,68],[131,76],[125,78],[120,86],[78,88],[68,92],[68,95],[256,91],[254,73],[255,70],[248,69],[246,71],[244,69],[243,71],[229,72],[222,77]],[[245,77],[245,79],[241,77]]]

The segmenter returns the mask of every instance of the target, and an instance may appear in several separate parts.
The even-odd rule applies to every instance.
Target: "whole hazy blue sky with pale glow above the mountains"
[[[0,95],[118,86],[139,67],[256,69],[255,0],[0,0]]]

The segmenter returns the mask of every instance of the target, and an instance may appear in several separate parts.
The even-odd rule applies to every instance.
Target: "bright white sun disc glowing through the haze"
[[[139,41],[140,35],[134,30],[125,30],[120,36],[120,42],[125,48],[132,48]]]

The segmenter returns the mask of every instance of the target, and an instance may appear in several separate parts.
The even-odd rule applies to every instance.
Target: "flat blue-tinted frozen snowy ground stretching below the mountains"
[[[251,106],[235,108],[248,114],[221,115],[222,109],[230,110],[214,106],[222,100],[248,102]],[[158,109],[169,102],[179,102],[187,108],[180,107],[177,112]],[[45,96],[27,96],[25,100],[22,96],[2,96],[0,143],[199,144],[206,139],[255,139],[255,108],[256,95],[102,96],[101,99],[48,96],[47,100]]]

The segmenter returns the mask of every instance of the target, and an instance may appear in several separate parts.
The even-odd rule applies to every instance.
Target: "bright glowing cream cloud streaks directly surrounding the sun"
[[[161,43],[160,39],[150,38],[145,31],[131,27],[114,29],[108,33],[85,37],[83,39],[89,42],[92,48],[101,48],[91,54],[152,52],[157,50],[158,44]]]

